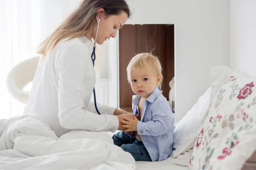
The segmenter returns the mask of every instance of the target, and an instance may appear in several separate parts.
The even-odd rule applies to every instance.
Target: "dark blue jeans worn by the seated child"
[[[121,131],[112,136],[114,144],[121,147],[122,150],[131,153],[135,161],[151,161],[148,150],[143,142],[138,141],[135,137],[130,137]]]

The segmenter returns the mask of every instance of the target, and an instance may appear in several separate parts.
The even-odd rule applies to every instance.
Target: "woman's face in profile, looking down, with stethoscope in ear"
[[[99,15],[97,15],[97,20],[99,20]],[[119,30],[128,19],[128,15],[123,11],[119,15],[111,15],[109,17],[102,17],[100,18],[99,22],[99,30],[97,34],[97,44],[102,45],[103,42],[110,39],[111,37],[115,38],[117,30]],[[93,29],[93,39],[95,39],[97,25]]]

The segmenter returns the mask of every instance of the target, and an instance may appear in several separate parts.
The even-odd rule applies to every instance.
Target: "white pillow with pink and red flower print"
[[[256,150],[256,79],[236,72],[214,96],[190,157],[195,170],[240,170]]]

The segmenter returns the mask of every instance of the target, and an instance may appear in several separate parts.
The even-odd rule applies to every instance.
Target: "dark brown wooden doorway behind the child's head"
[[[119,30],[119,107],[132,112],[134,92],[128,84],[126,68],[138,53],[152,52],[163,68],[163,96],[169,100],[169,82],[174,77],[174,25],[124,25]]]

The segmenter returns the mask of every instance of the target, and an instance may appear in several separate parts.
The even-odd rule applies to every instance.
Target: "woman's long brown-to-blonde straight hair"
[[[131,15],[125,0],[83,0],[80,6],[38,46],[37,53],[45,57],[58,42],[65,38],[71,40],[81,36],[90,37],[96,25],[96,12],[100,8],[104,9],[103,13],[106,18],[111,15],[119,15],[122,11],[128,17]]]

